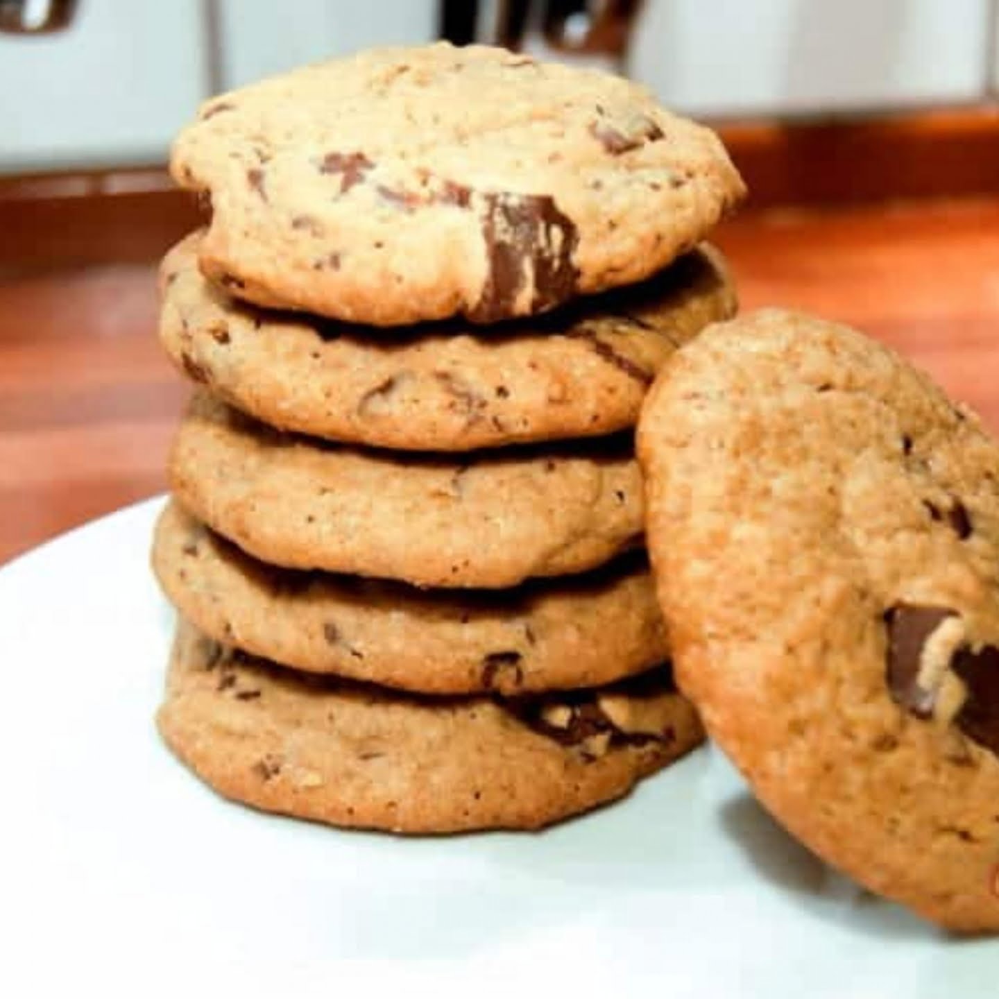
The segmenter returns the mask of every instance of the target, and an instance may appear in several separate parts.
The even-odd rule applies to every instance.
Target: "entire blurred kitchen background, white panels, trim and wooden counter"
[[[198,103],[439,37],[716,125],[744,306],[853,323],[999,429],[999,0],[0,0],[0,562],[163,488],[155,266],[198,224],[164,169]]]

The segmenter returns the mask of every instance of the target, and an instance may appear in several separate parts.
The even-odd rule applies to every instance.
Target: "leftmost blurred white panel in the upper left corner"
[[[207,86],[201,0],[81,0],[65,31],[0,34],[0,171],[163,162]]]

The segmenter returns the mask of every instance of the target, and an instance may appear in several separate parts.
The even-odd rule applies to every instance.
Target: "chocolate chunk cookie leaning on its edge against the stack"
[[[885,348],[768,311],[674,355],[638,447],[708,731],[832,863],[999,929],[999,446]]]

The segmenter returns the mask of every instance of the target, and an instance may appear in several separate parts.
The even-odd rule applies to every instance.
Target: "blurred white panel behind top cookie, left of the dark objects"
[[[221,76],[239,87],[372,45],[437,36],[438,0],[220,0]]]

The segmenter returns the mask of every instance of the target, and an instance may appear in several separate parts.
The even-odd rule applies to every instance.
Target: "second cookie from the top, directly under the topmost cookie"
[[[273,427],[334,441],[468,451],[633,427],[678,345],[735,312],[702,247],[644,284],[499,330],[383,333],[241,305],[198,270],[199,235],[163,262],[160,339],[188,378]]]

